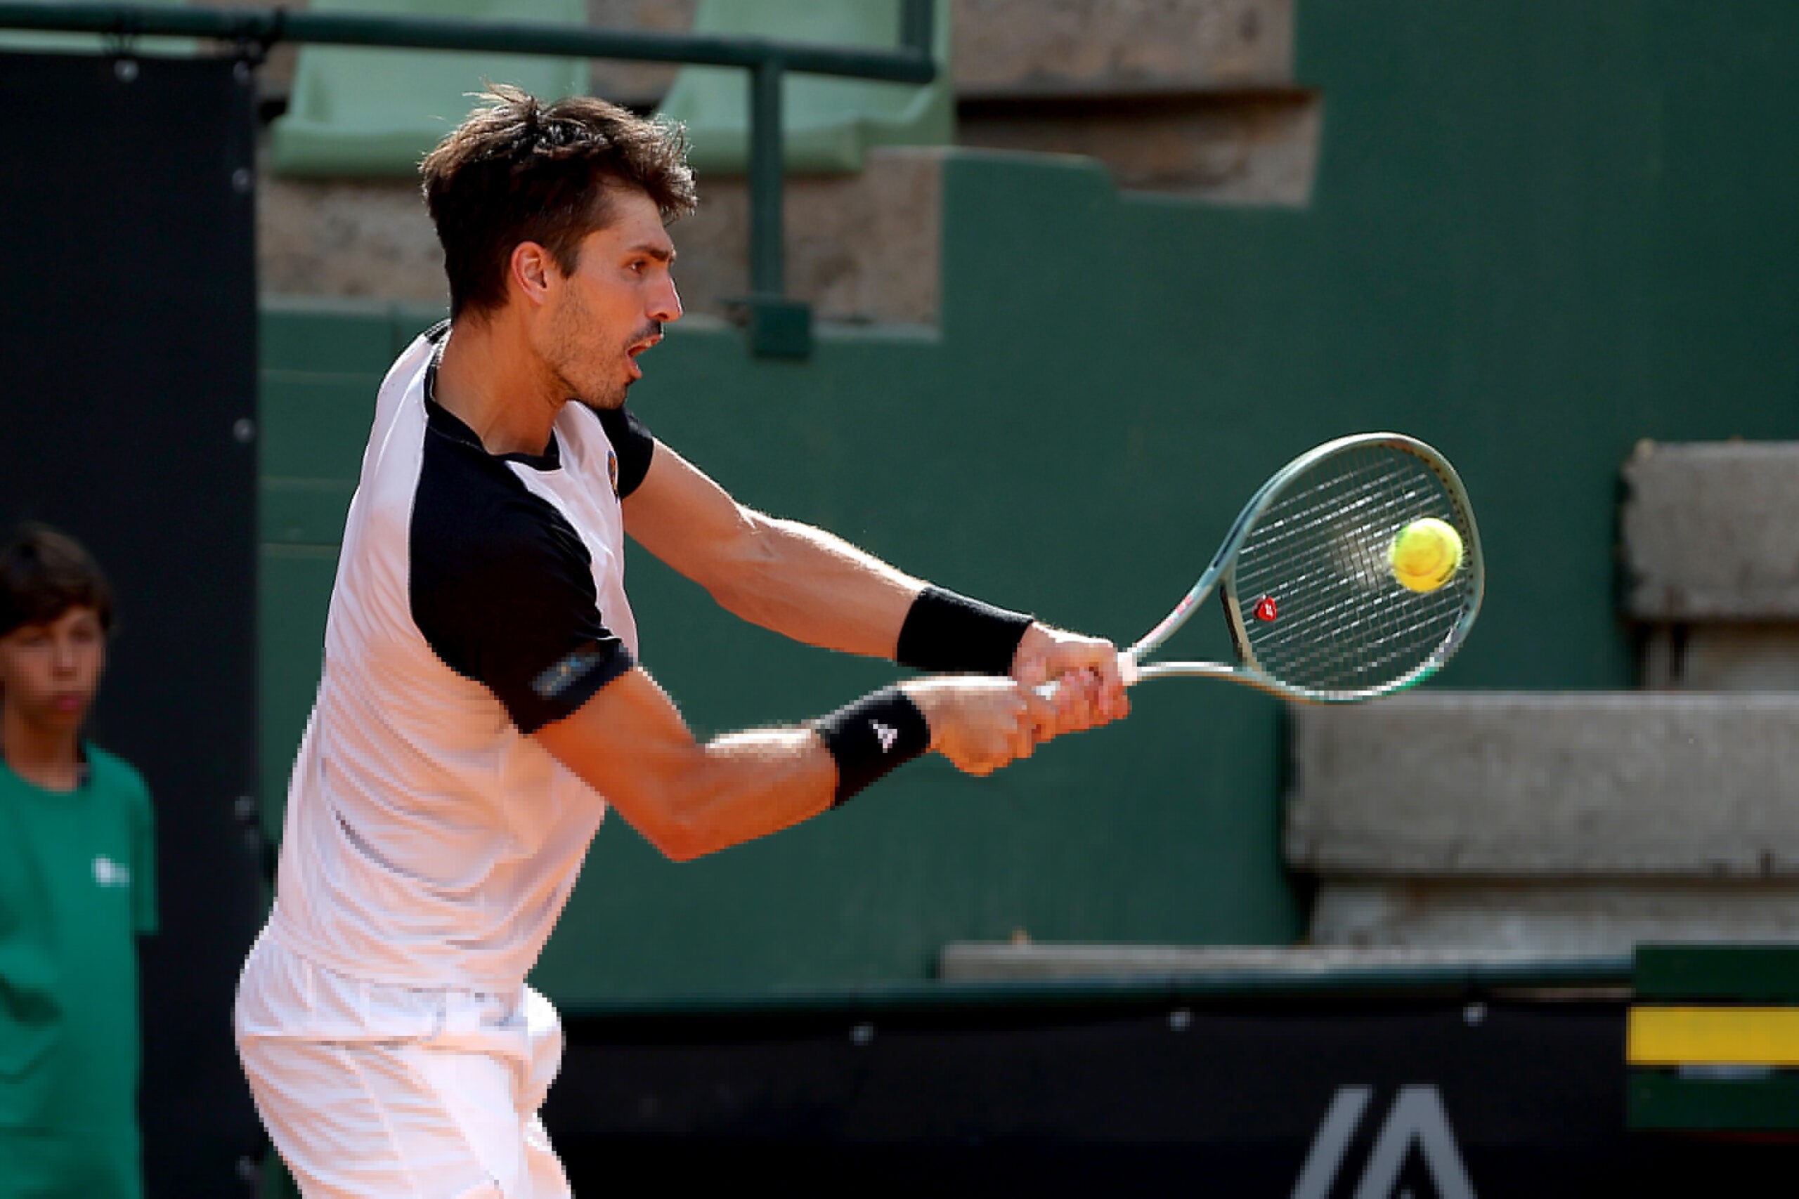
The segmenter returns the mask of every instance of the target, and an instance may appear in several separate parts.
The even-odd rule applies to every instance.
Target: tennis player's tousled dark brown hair
[[[572,95],[541,102],[495,84],[425,156],[425,203],[450,277],[450,316],[506,302],[513,248],[534,241],[576,268],[581,239],[610,219],[612,189],[644,192],[664,221],[693,212],[693,171],[680,126]]]

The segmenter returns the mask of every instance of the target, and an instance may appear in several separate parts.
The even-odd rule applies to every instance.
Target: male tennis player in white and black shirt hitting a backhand
[[[689,859],[935,750],[984,775],[1124,712],[1108,642],[928,588],[727,496],[624,406],[682,313],[676,131],[497,88],[425,160],[452,320],[394,363],[237,1044],[309,1199],[568,1194],[524,985],[606,807]],[[736,615],[925,676],[698,742],[637,662],[624,534]],[[1033,683],[1061,679],[1056,703]]]

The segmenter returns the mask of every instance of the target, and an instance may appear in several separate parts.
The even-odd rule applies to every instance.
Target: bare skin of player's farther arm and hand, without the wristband
[[[624,498],[624,528],[743,620],[808,645],[871,658],[900,656],[901,631],[928,588],[835,534],[738,503],[662,442],[642,482]],[[1112,642],[1038,620],[1020,618],[1020,626],[1016,644],[1007,647],[1009,662],[995,662],[991,672],[1036,685],[1090,671],[1101,697],[1092,723],[1124,714]],[[914,665],[970,669],[953,662]]]

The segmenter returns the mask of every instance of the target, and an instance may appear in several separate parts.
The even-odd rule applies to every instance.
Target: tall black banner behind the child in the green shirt
[[[225,59],[0,56],[0,520],[79,537],[119,593],[94,739],[157,802],[144,951],[151,1195],[243,1195],[230,1044],[261,917],[254,86]]]

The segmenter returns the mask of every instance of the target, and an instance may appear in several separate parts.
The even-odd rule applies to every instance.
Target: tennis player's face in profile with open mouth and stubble
[[[680,320],[675,243],[649,196],[619,191],[612,223],[581,243],[574,271],[561,279],[549,325],[549,365],[568,394],[592,408],[617,408],[644,377],[637,356]]]

